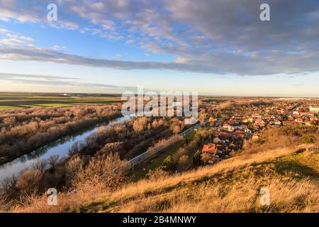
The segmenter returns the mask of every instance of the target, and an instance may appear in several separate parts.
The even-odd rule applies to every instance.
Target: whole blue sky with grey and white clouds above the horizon
[[[318,37],[318,0],[0,0],[0,92],[319,97]]]

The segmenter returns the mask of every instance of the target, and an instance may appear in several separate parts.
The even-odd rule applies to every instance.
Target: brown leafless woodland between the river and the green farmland
[[[120,115],[120,104],[1,111],[0,164]]]

